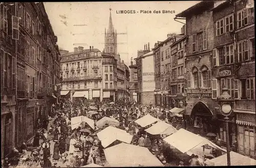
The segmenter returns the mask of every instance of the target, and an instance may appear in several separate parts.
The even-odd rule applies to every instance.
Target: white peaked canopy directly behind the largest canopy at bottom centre
[[[106,148],[116,140],[120,140],[125,143],[131,143],[133,135],[130,135],[124,130],[109,126],[97,133],[102,147]]]

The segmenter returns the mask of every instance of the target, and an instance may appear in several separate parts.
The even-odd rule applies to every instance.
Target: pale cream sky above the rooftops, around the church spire
[[[168,33],[179,34],[183,24],[174,20],[175,15],[199,2],[48,2],[44,5],[58,37],[59,47],[70,52],[74,50],[74,43],[84,43],[81,45],[84,49],[91,45],[103,51],[104,31],[108,29],[109,8],[112,8],[113,25],[117,33],[127,32],[127,36],[117,36],[118,43],[125,43],[118,44],[117,51],[121,60],[129,66],[131,57],[136,58],[137,51],[143,50],[144,44],[150,42],[152,49],[155,42],[165,40]],[[118,10],[136,10],[136,13],[117,14]],[[140,14],[140,10],[160,10],[161,14]],[[163,14],[162,10],[175,10],[175,13]],[[63,19],[59,15],[67,18]],[[67,26],[63,23],[65,21]],[[78,33],[82,35],[73,35]]]

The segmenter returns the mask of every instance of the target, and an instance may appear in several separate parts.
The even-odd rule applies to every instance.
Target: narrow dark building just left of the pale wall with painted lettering
[[[133,64],[133,58],[131,58],[130,68],[130,101],[138,102],[137,91],[138,91],[138,70],[137,65]]]

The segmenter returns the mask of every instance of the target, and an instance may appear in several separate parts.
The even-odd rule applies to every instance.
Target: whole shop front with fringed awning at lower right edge
[[[255,111],[234,111],[237,113],[238,152],[256,159]]]

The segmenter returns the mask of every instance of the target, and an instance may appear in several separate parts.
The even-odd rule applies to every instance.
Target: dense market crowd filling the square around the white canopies
[[[95,113],[89,113],[90,111]],[[33,146],[30,149],[24,142],[17,153],[21,153],[18,165],[24,167],[81,167],[90,163],[104,165],[104,152],[101,142],[97,137],[97,132],[108,127],[96,128],[96,122],[104,116],[115,118],[120,125],[117,128],[126,130],[133,135],[132,144],[145,147],[151,151],[165,166],[170,165],[200,165],[198,156],[194,155],[186,161],[175,158],[175,153],[170,146],[162,140],[160,135],[151,135],[145,132],[145,128],[140,127],[134,121],[136,119],[151,114],[162,121],[174,125],[176,129],[181,127],[177,118],[170,116],[167,110],[157,111],[152,104],[141,106],[136,102],[121,99],[110,101],[88,101],[84,99],[61,99],[53,106],[49,113],[49,118],[44,121],[40,131],[36,133]],[[94,120],[95,129],[87,123],[83,123],[76,128],[72,128],[71,118],[76,116],[88,116]],[[85,132],[82,130],[86,129]],[[115,143],[116,144],[116,143]],[[53,148],[53,150],[51,150]],[[30,153],[28,151],[31,151]],[[28,154],[29,153],[29,154]],[[175,158],[175,159],[174,159]],[[2,160],[3,166],[10,166],[10,163]],[[173,164],[170,162],[174,161]],[[28,163],[30,162],[30,163]],[[17,165],[16,165],[17,166]]]

